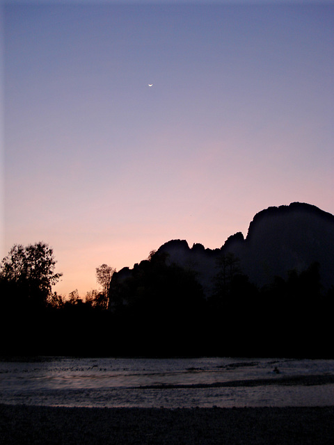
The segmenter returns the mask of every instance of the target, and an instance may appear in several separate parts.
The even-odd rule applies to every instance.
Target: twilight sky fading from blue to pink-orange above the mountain
[[[0,31],[1,258],[48,243],[63,296],[267,207],[334,213],[333,2],[13,0]]]

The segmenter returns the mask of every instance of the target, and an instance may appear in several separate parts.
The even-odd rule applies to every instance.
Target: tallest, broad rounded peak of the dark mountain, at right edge
[[[334,284],[334,216],[311,204],[293,202],[260,211],[249,225],[246,247],[245,269],[257,284],[315,262],[322,284]]]

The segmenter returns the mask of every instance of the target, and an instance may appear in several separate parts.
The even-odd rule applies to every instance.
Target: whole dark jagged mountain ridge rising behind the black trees
[[[334,216],[300,202],[269,207],[254,216],[246,238],[238,232],[214,250],[198,243],[189,248],[185,240],[172,240],[161,245],[157,254],[166,255],[166,264],[196,272],[205,296],[213,290],[216,261],[226,254],[238,258],[242,273],[259,287],[275,277],[285,279],[290,270],[301,273],[318,263],[321,285],[328,290],[334,286]],[[120,283],[131,275],[131,269],[123,268],[113,280]]]

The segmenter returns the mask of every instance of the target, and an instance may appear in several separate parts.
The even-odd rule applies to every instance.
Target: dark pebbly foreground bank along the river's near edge
[[[333,444],[334,407],[64,408],[0,405],[1,444]]]

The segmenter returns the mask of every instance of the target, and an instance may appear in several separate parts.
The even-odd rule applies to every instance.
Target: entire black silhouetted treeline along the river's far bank
[[[0,355],[333,357],[334,291],[319,264],[259,289],[221,255],[207,296],[191,267],[152,252],[126,276],[109,270],[100,297],[64,302],[51,293],[53,252],[38,248],[34,266],[22,246],[2,262]]]

